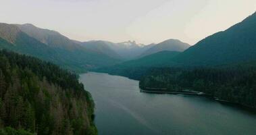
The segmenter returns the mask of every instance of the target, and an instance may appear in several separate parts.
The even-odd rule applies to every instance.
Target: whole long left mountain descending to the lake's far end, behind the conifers
[[[0,23],[0,49],[39,57],[76,72],[120,62],[119,59],[86,49],[58,32],[31,24]]]

